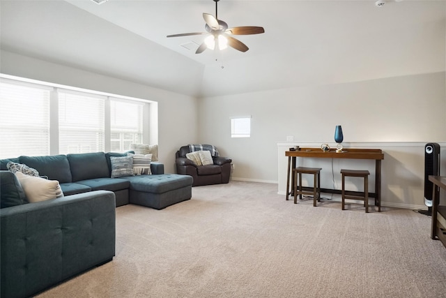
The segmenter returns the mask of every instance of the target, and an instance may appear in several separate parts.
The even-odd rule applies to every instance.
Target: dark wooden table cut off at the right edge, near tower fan
[[[446,190],[446,177],[429,176],[433,183],[432,190],[432,228],[431,238],[440,239],[446,247],[446,205],[440,205],[440,188]]]

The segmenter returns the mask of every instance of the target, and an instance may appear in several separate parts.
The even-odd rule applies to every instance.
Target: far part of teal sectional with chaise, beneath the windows
[[[63,195],[89,191],[113,191],[116,207],[140,204],[163,209],[190,200],[193,179],[190,176],[164,174],[162,163],[151,163],[151,175],[111,178],[112,157],[127,154],[94,152],[54,156],[20,156],[0,160],[0,170],[7,170],[9,161],[36,169],[40,176],[57,180]]]

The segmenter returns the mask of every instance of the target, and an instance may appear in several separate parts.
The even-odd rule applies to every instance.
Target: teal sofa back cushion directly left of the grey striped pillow
[[[104,152],[68,154],[72,181],[109,177],[109,167]]]

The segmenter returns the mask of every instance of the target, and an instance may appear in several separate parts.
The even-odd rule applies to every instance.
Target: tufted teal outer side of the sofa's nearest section
[[[112,260],[115,212],[111,191],[0,209],[1,297],[30,297]]]

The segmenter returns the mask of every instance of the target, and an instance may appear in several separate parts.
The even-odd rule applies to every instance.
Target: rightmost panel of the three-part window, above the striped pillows
[[[110,100],[111,150],[126,151],[142,143],[143,103]]]

